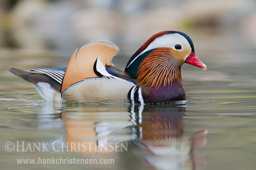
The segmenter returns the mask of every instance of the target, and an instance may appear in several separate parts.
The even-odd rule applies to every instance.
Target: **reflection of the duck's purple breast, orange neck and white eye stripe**
[[[135,120],[139,134],[135,142],[142,149],[135,154],[156,169],[185,168],[191,162],[190,141],[183,139],[185,106],[146,105],[144,109]]]

